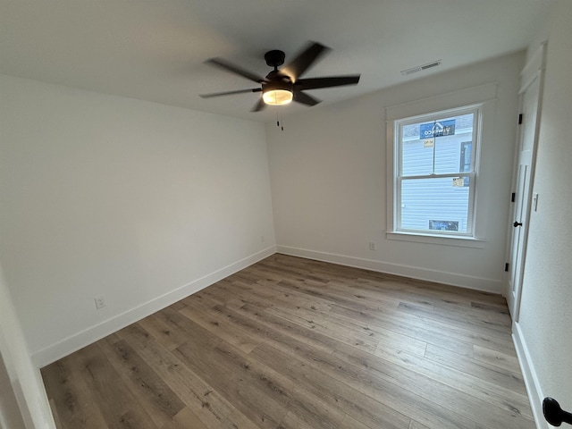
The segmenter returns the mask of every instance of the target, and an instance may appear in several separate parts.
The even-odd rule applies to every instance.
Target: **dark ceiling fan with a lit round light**
[[[252,112],[259,112],[265,105],[286,105],[292,100],[303,105],[317,105],[321,100],[306,94],[306,89],[341,87],[343,85],[356,85],[359,74],[349,76],[328,76],[324,78],[300,79],[300,77],[312,66],[313,63],[330,49],[316,42],[310,42],[307,47],[287,63],[282,69],[278,69],[284,63],[285,54],[279,50],[268,51],[265,54],[265,62],[274,70],[270,71],[265,78],[257,73],[245,70],[238,65],[229,63],[222,58],[211,58],[205,63],[219,67],[225,71],[238,74],[248,80],[260,84],[258,88],[239,89],[236,91],[217,92],[203,94],[200,97],[220,97],[247,92],[262,92],[262,97],[252,108]]]

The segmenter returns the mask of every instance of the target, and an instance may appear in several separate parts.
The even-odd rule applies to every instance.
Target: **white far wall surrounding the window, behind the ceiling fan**
[[[289,116],[284,131],[267,124],[278,250],[501,293],[523,63],[524,53],[508,55]],[[481,161],[483,247],[387,240],[385,108],[491,82],[498,99]]]

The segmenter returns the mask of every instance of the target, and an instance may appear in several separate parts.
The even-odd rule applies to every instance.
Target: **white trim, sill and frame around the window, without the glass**
[[[483,154],[487,146],[494,144],[492,135],[492,122],[494,119],[494,105],[496,97],[497,84],[490,83],[479,87],[467,88],[455,92],[442,94],[436,97],[424,98],[415,102],[402,105],[392,105],[385,109],[386,111],[386,131],[387,131],[387,230],[386,237],[389,240],[416,241],[433,244],[462,246],[462,247],[484,247],[484,231],[486,225],[486,207],[479,204],[482,196],[483,181],[479,176],[479,166],[483,162]],[[467,234],[452,234],[429,231],[400,231],[400,193],[398,192],[397,181],[400,160],[399,144],[400,123],[423,121],[428,115],[440,115],[441,117],[452,116],[457,112],[463,112],[470,109],[478,110],[477,127],[473,129],[474,136],[474,156],[471,163],[475,163],[475,185],[471,185],[470,191],[473,193],[469,197],[469,217],[467,219]],[[476,128],[476,129],[475,129]],[[475,139],[475,134],[478,139]],[[458,174],[452,174],[458,176]]]

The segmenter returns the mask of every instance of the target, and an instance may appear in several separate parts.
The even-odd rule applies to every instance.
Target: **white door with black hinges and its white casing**
[[[537,67],[527,65],[523,70],[524,85],[520,89],[520,116],[517,139],[517,163],[515,164],[515,178],[513,180],[514,210],[510,219],[512,229],[509,257],[509,303],[510,315],[513,322],[518,321],[520,296],[522,294],[522,281],[526,257],[526,238],[528,235],[528,217],[531,209],[532,179],[534,175],[534,161],[536,138],[538,134],[538,114],[542,83],[542,58]],[[527,70],[528,69],[528,70]],[[532,69],[532,70],[531,70]],[[525,73],[528,71],[528,73]],[[528,74],[528,76],[526,76]]]

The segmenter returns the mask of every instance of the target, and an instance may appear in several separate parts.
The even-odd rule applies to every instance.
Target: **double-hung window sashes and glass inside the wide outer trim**
[[[479,105],[394,122],[395,231],[473,237]]]

